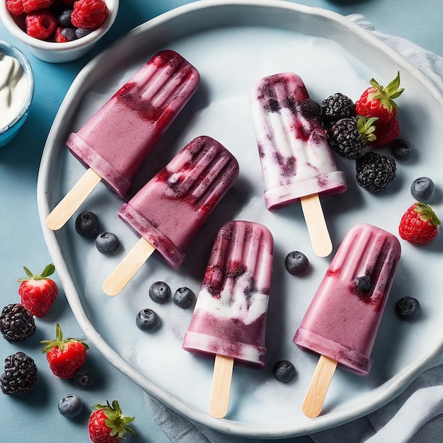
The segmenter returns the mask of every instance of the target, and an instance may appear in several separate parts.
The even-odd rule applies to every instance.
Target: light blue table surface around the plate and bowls
[[[23,50],[35,74],[35,96],[28,120],[16,139],[0,149],[1,306],[18,302],[18,283],[15,279],[23,275],[23,265],[38,272],[51,261],[38,218],[36,185],[45,139],[71,82],[97,52],[127,31],[160,13],[187,3],[190,2],[120,1],[120,11],[108,35],[86,56],[64,64],[40,61],[0,23],[0,40],[6,40]],[[441,0],[427,0],[421,7],[416,0],[305,0],[298,3],[326,8],[343,15],[362,13],[380,32],[408,38],[443,56]],[[54,280],[58,282],[57,275]],[[40,352],[39,342],[44,338],[52,338],[57,322],[63,326],[66,335],[84,337],[60,284],[57,301],[45,318],[37,320],[38,332],[32,338],[21,343],[8,343],[0,339],[1,370],[4,358],[18,350],[33,357],[39,368],[38,386],[33,393],[21,398],[1,395],[0,441],[87,442],[87,420],[91,406],[107,399],[118,399],[127,415],[136,416],[133,427],[137,435],[131,436],[130,442],[168,442],[144,407],[142,389],[117,371],[97,350],[89,350],[86,360],[86,367],[93,369],[96,374],[96,381],[91,388],[78,389],[71,381],[57,379],[51,374],[45,356]],[[67,419],[58,413],[59,398],[67,393],[77,393],[84,401],[84,413],[77,418]],[[226,437],[226,442],[229,441],[229,437]],[[276,441],[312,442],[309,437]]]

